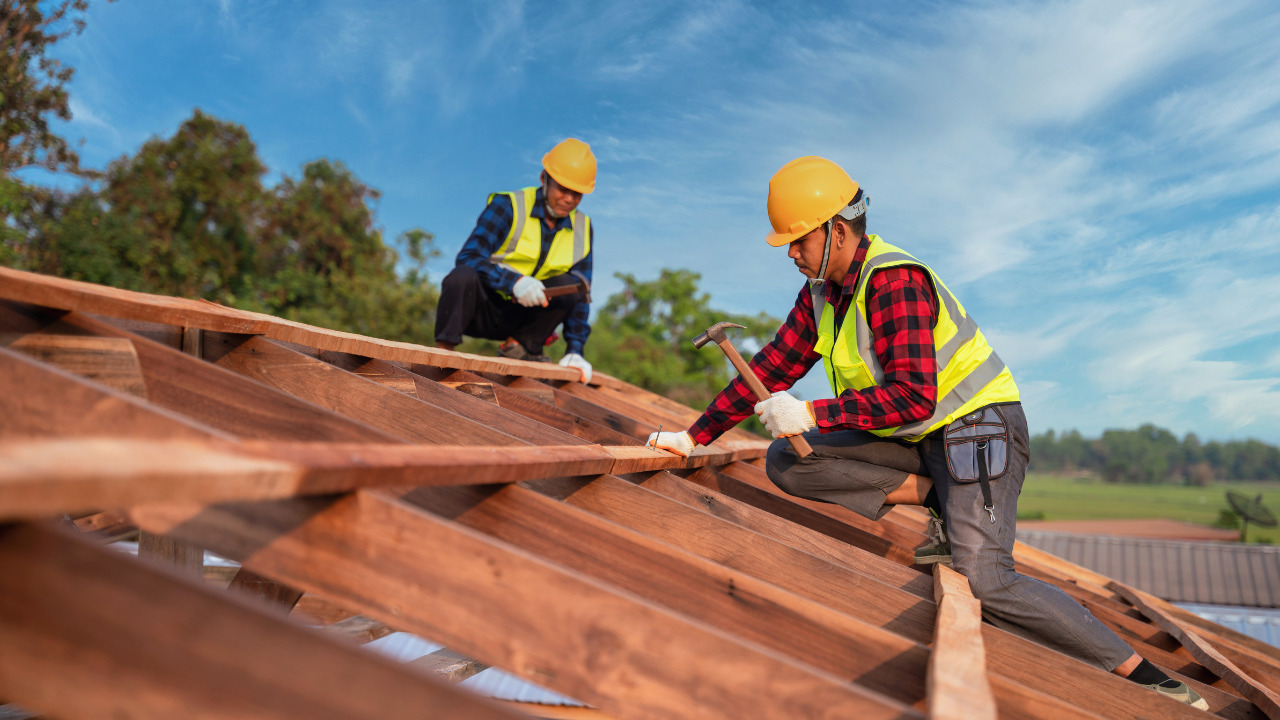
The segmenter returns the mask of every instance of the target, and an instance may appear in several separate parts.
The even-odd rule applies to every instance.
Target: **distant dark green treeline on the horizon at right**
[[[1106,430],[1084,439],[1078,430],[1032,438],[1036,471],[1087,470],[1112,483],[1179,483],[1280,479],[1280,448],[1256,439],[1202,443],[1194,433],[1179,441],[1147,424],[1137,430]]]

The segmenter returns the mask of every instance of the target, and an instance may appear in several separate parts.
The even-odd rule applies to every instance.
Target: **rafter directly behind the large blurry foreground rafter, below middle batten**
[[[404,500],[905,705],[924,702],[923,644],[778,585],[518,486],[421,488]]]

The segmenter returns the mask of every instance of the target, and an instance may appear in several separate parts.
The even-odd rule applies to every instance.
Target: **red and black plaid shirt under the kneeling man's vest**
[[[836,309],[836,328],[841,327],[852,306],[854,290],[858,288],[869,246],[870,240],[864,236],[845,282],[823,286],[827,302]],[[937,297],[925,270],[909,265],[877,272],[867,291],[867,313],[873,350],[884,369],[884,382],[867,389],[846,389],[840,397],[814,400],[813,411],[823,432],[893,428],[928,418],[937,404],[938,365],[933,355]],[[813,299],[805,286],[778,334],[755,354],[749,365],[771,392],[787,389],[822,361],[814,351],[817,342]],[[742,378],[735,377],[689,428],[689,434],[694,442],[708,445],[750,416],[755,402]]]

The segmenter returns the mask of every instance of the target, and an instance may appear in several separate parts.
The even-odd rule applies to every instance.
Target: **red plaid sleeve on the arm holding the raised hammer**
[[[872,350],[884,370],[884,382],[813,401],[819,428],[895,428],[924,420],[937,405],[937,297],[924,270],[899,266],[872,275],[867,311]]]

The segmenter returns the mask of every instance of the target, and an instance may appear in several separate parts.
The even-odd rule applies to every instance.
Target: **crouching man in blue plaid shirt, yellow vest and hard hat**
[[[579,283],[575,275],[591,282],[591,219],[577,205],[593,190],[595,155],[571,137],[543,156],[540,186],[490,195],[440,283],[435,346],[453,350],[465,334],[504,340],[503,356],[548,361],[547,338],[563,323],[559,364],[590,382],[591,364],[582,357],[591,333],[586,296],[545,291]]]

